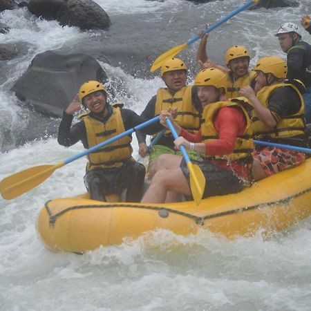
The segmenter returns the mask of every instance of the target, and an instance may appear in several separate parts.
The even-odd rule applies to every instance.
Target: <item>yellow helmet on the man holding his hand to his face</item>
[[[259,70],[263,73],[272,73],[275,77],[284,79],[288,73],[288,65],[279,56],[267,56],[258,60],[254,70]]]

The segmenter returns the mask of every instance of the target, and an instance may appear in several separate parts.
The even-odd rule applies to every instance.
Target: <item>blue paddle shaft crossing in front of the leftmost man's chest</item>
[[[116,140],[119,140],[120,138],[123,138],[124,136],[131,135],[131,133],[138,131],[140,129],[143,129],[144,127],[146,127],[146,126],[148,126],[154,122],[157,122],[159,120],[160,120],[159,115],[157,117],[153,117],[153,119],[150,119],[146,122],[143,122],[142,124],[139,124],[138,126],[135,126],[132,129],[129,129],[129,130],[127,130],[127,131],[125,131],[119,135],[116,135],[113,138],[109,138],[109,140],[105,140],[104,142],[101,142],[100,144],[97,144],[96,146],[93,146],[89,149],[86,149],[86,150],[82,151],[81,153],[76,154],[75,156],[67,158],[66,160],[64,160],[64,164],[68,164],[68,163],[73,162],[73,161],[75,161],[75,160],[77,160],[83,156],[86,156],[88,153],[91,153],[97,149],[100,149],[100,148],[106,146],[107,144],[111,144],[111,142],[115,142]]]

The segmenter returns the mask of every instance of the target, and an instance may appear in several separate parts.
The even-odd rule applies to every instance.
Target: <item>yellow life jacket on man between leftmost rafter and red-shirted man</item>
[[[174,95],[171,95],[166,88],[159,88],[155,107],[155,115],[159,115],[162,110],[177,107],[176,123],[183,129],[196,133],[200,129],[200,113],[194,108],[192,103],[191,90],[193,86],[184,86]],[[171,133],[167,130],[165,134]]]

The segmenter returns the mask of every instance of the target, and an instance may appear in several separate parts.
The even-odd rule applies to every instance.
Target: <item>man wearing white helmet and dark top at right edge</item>
[[[295,23],[283,23],[276,32],[284,53],[287,53],[288,79],[305,84],[305,121],[311,123],[311,46],[301,41],[301,30]]]

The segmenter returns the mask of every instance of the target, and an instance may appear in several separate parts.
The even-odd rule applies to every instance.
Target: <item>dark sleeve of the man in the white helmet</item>
[[[302,44],[293,46],[288,51],[288,79],[301,79],[304,75],[303,57],[306,52],[306,47]]]

